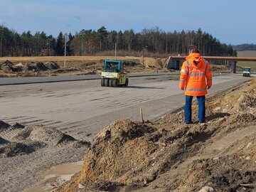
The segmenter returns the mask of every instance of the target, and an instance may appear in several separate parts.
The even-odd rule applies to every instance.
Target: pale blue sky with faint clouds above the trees
[[[18,33],[201,28],[221,43],[256,44],[255,0],[0,0],[0,8],[0,25]]]

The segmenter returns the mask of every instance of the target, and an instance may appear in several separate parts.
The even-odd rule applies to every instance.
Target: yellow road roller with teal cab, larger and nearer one
[[[128,74],[124,73],[124,62],[121,60],[105,60],[102,74],[102,87],[128,86]]]

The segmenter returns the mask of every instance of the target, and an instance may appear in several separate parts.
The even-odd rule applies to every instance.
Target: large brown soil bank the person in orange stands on
[[[256,80],[208,100],[207,124],[183,112],[120,120],[87,150],[82,171],[56,191],[255,191]]]

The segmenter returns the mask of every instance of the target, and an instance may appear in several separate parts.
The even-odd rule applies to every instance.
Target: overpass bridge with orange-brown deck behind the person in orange
[[[238,61],[256,61],[256,58],[247,58],[247,57],[202,56],[202,58],[206,60],[229,60],[231,62],[230,69],[232,73],[236,73],[236,63]],[[186,56],[169,56],[169,59],[166,63],[166,68],[180,69],[184,60],[186,60]]]

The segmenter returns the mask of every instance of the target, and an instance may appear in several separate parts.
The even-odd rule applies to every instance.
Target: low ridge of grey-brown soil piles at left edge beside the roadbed
[[[21,156],[44,148],[73,145],[89,146],[90,143],[74,139],[55,128],[7,124],[0,121],[0,158]]]

